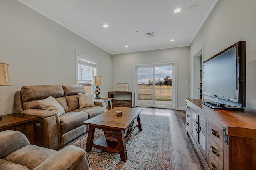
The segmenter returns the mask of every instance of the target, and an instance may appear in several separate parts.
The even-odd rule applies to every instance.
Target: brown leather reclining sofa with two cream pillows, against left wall
[[[57,149],[86,133],[86,121],[104,113],[105,103],[94,100],[95,106],[79,108],[78,93],[85,93],[84,86],[35,85],[23,86],[15,93],[16,113],[38,116],[33,121],[35,145]],[[54,111],[43,110],[38,100],[54,97],[64,108],[65,113],[58,115]],[[26,135],[22,128],[18,129]]]

